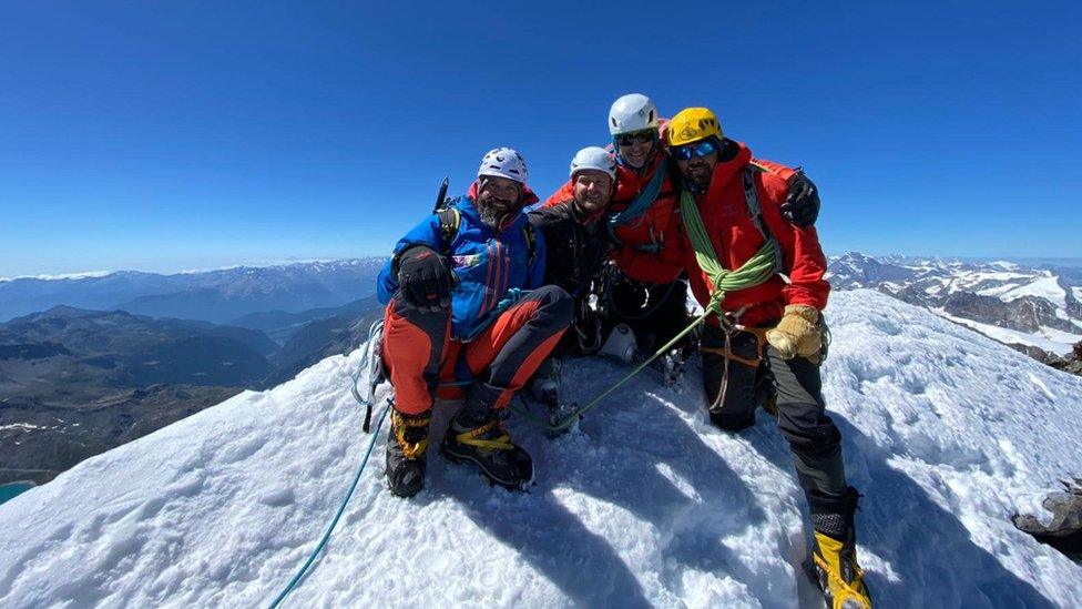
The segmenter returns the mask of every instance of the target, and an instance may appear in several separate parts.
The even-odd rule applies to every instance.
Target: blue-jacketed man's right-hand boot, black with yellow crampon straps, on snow
[[[442,450],[455,463],[473,463],[492,484],[523,490],[533,481],[533,459],[511,443],[500,413],[492,408],[502,392],[500,387],[474,383],[443,436]]]

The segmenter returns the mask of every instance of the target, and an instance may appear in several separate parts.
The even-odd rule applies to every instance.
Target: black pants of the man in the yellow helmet
[[[754,359],[758,355],[757,339],[751,332],[738,332],[731,337],[729,348],[739,357]],[[702,345],[724,348],[724,332],[717,326],[706,326]],[[716,353],[703,353],[703,382],[711,420],[723,429],[745,429],[755,424],[756,407],[769,396],[776,396],[778,429],[789,441],[800,486],[805,491],[844,493],[841,433],[826,414],[818,364],[804,357],[782,359],[768,345],[758,366],[728,359],[726,375],[725,359]]]

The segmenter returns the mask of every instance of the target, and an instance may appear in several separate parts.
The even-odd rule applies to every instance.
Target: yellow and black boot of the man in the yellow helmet
[[[871,596],[857,565],[853,516],[860,494],[851,486],[840,495],[809,490],[808,505],[815,529],[810,575],[830,609],[870,609]]]

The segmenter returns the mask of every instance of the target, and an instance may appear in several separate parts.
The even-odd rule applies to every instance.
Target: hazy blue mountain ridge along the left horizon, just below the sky
[[[0,322],[67,305],[228,323],[254,313],[338,307],[376,292],[385,258],[237,266],[161,275],[123,271],[0,281]]]

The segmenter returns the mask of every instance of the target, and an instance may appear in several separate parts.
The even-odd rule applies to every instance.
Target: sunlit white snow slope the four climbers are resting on
[[[839,293],[826,396],[866,498],[880,607],[1079,607],[1082,567],[1017,531],[1082,474],[1082,379],[871,291]],[[306,558],[363,454],[358,354],[101,456],[0,506],[0,607],[253,607]],[[565,367],[586,398],[624,369]],[[529,494],[436,457],[391,497],[382,439],[290,607],[814,606],[803,497],[761,414],[705,423],[700,376],[642,376],[554,441]]]

